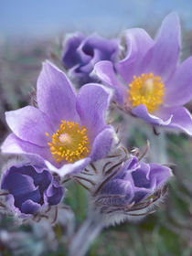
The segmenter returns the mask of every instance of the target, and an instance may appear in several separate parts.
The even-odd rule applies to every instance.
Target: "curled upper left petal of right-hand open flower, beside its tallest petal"
[[[125,31],[127,55],[117,63],[117,72],[129,84],[133,76],[140,76],[143,72],[139,69],[144,54],[154,44],[153,39],[142,28],[132,28]]]

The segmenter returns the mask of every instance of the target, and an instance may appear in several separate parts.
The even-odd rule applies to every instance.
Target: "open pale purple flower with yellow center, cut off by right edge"
[[[192,117],[183,107],[192,98],[192,58],[178,65],[180,25],[172,13],[165,17],[153,40],[141,28],[125,32],[127,56],[117,63],[117,78],[110,61],[96,64],[95,72],[114,89],[124,111],[146,123],[181,129],[192,135]]]

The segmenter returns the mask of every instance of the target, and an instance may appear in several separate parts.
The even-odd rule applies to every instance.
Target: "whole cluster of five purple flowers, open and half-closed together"
[[[46,61],[36,104],[5,113],[12,133],[2,152],[25,161],[5,167],[0,207],[21,219],[45,215],[61,202],[64,182],[73,179],[91,192],[92,207],[107,225],[152,212],[172,172],[128,154],[107,117],[114,103],[153,127],[192,135],[192,117],[183,107],[192,98],[192,58],[178,65],[179,48],[174,13],[155,40],[141,28],[126,30],[122,40],[67,37],[65,72]]]

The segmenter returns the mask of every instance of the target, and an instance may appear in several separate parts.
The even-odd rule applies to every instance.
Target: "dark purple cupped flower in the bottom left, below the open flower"
[[[35,165],[11,165],[2,178],[1,189],[8,191],[7,205],[21,217],[58,205],[63,197],[63,187],[48,170]]]

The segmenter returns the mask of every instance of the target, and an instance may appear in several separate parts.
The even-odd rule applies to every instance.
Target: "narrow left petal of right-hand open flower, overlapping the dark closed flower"
[[[111,61],[102,60],[95,64],[93,73],[114,90],[115,101],[123,105],[123,98],[128,87],[121,82],[113,69]]]

